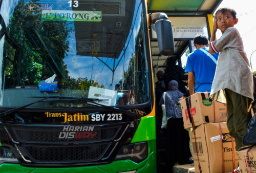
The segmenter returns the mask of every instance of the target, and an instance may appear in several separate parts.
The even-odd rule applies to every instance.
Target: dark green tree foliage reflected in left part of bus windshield
[[[63,58],[72,29],[65,21],[41,21],[40,15],[27,12],[24,1],[14,8],[7,28],[10,39],[4,45],[4,71],[12,79],[10,85],[24,85],[24,79],[29,79],[26,84],[36,85],[46,69],[48,75],[57,74],[59,79],[68,76]]]

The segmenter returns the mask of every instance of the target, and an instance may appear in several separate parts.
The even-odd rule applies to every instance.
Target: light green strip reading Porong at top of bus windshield
[[[101,21],[101,11],[42,10],[41,20]]]

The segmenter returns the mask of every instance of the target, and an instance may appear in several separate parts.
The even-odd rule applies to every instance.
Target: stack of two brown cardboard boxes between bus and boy
[[[235,142],[226,125],[227,107],[196,93],[180,101],[184,128],[190,139],[196,172],[229,172],[238,166]]]

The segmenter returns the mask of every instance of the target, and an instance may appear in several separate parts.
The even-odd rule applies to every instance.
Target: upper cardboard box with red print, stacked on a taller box
[[[195,93],[181,100],[180,104],[184,128],[195,127],[206,122],[227,121],[226,104],[209,100],[209,93]]]

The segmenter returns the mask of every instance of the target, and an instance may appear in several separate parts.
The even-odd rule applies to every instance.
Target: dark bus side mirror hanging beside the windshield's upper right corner
[[[159,52],[164,55],[174,54],[174,36],[172,22],[165,13],[152,13],[152,28],[157,33]]]

